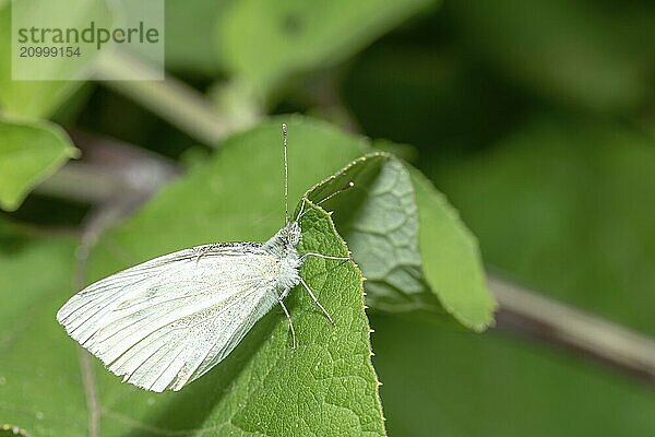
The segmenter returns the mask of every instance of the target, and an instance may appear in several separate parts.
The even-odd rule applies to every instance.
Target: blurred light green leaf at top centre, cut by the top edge
[[[432,0],[234,2],[221,15],[222,62],[266,95],[289,75],[335,64]]]

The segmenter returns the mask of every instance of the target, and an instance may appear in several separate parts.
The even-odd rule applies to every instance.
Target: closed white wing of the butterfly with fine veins
[[[91,284],[57,320],[123,381],[179,390],[275,305],[278,271],[260,244],[199,246]]]

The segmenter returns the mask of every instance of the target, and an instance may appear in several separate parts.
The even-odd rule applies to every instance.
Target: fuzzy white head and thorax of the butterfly
[[[300,243],[300,226],[290,222],[264,243],[264,249],[279,262],[279,290],[293,288],[300,283],[300,257],[296,246]]]

